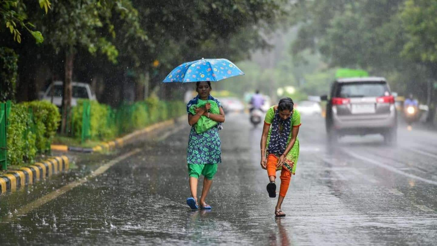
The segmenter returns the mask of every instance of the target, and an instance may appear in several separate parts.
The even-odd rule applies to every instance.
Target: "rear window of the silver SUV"
[[[340,84],[337,97],[380,97],[387,93],[388,87],[384,82],[359,82]]]

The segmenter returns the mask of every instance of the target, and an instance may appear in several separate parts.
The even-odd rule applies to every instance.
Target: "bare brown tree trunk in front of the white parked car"
[[[62,90],[62,124],[61,132],[66,134],[67,117],[71,108],[71,98],[73,87],[71,85],[71,80],[73,77],[73,60],[74,53],[71,49],[66,51],[65,54],[65,79],[63,83]]]

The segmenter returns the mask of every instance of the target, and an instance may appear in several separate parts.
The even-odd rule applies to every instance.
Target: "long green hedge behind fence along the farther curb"
[[[77,106],[73,107],[71,115],[73,136],[77,138],[81,137],[83,102],[84,100],[80,100]],[[90,101],[90,104],[91,140],[113,139],[121,134],[130,133],[167,119],[174,119],[185,113],[184,102],[161,101],[154,96],[141,102],[124,103],[117,109],[111,109],[97,101]]]

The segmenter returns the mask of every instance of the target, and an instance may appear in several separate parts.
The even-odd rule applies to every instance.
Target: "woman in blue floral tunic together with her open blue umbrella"
[[[191,209],[211,209],[206,204],[206,196],[211,188],[212,178],[217,172],[217,163],[222,162],[220,136],[218,130],[222,129],[225,122],[225,113],[222,104],[210,95],[211,82],[220,81],[229,77],[243,75],[234,63],[227,59],[204,59],[182,63],[174,68],[163,82],[196,82],[198,95],[187,104],[188,124],[191,131],[188,139],[187,165],[191,190],[191,197],[187,204]],[[199,102],[203,101],[203,102]],[[208,101],[205,103],[204,101]],[[213,104],[213,105],[212,105]],[[196,106],[194,106],[196,105]],[[198,123],[208,122],[214,125],[207,130],[198,131]],[[215,125],[215,123],[218,123]],[[203,175],[203,190],[200,200],[197,199],[197,183],[199,176]]]

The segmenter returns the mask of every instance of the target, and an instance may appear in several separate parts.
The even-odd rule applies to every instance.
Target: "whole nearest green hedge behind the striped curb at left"
[[[50,151],[59,120],[58,108],[50,102],[12,104],[7,125],[8,164],[27,164],[37,153]]]

